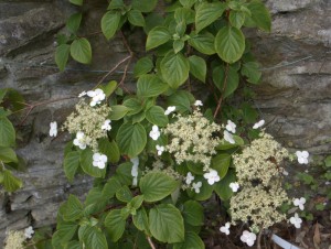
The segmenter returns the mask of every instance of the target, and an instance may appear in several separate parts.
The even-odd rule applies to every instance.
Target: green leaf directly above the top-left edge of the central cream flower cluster
[[[194,100],[194,96],[190,91],[177,90],[169,96],[168,106],[175,106],[175,111],[183,113],[191,111],[191,104],[193,104]]]

